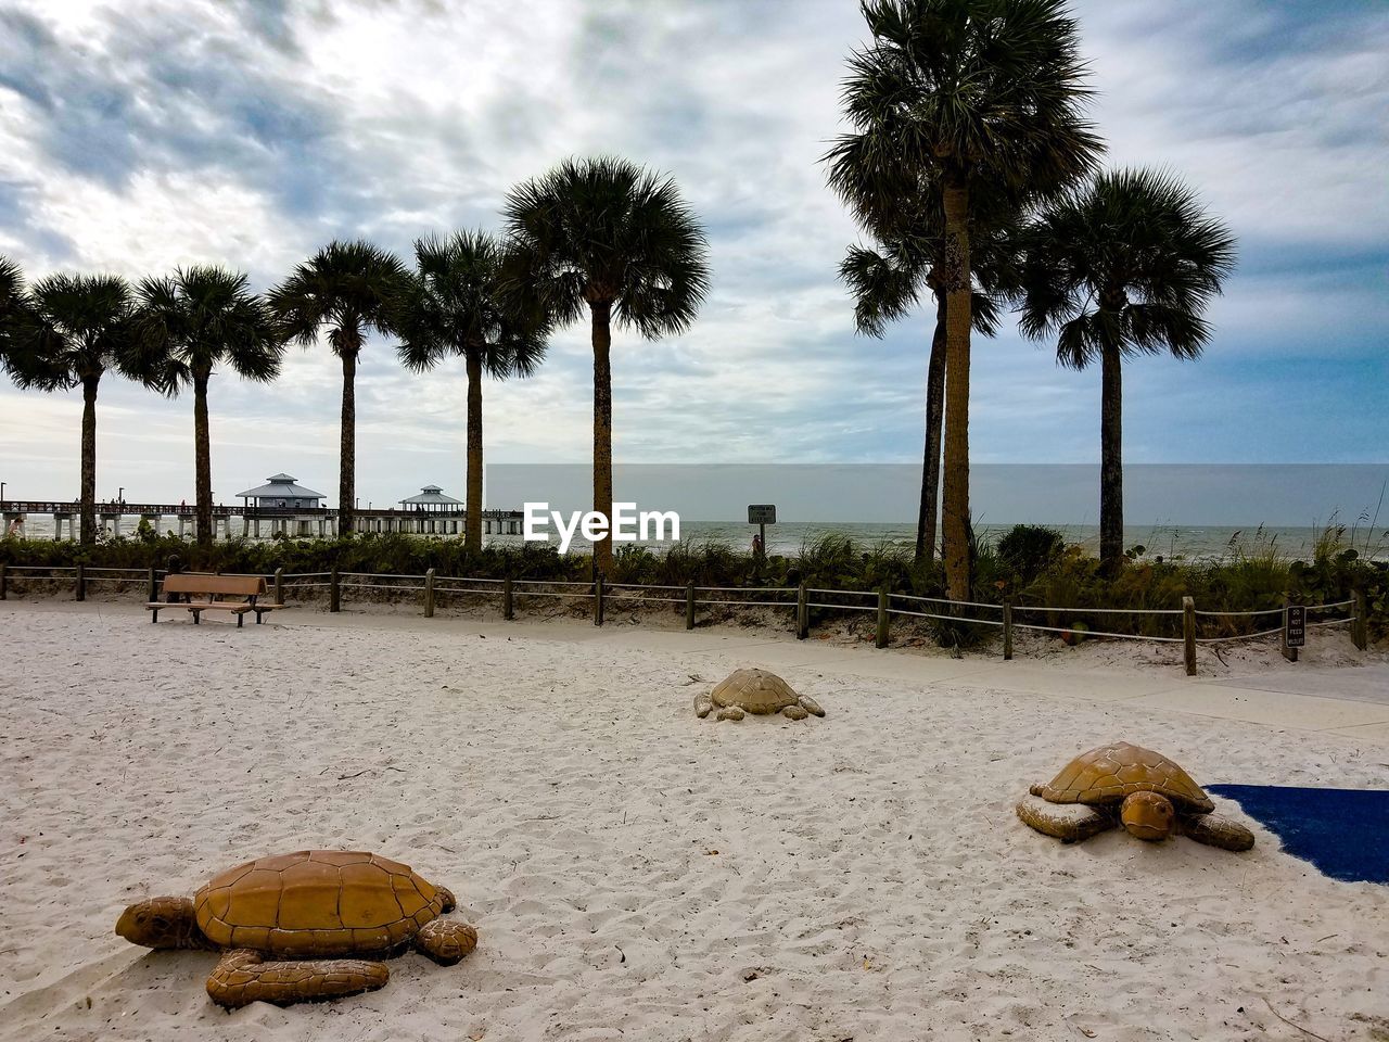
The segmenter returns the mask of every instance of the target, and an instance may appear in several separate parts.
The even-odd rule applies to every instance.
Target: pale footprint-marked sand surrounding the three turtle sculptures
[[[714,724],[693,695],[756,646],[317,621],[0,604],[0,1038],[1308,1038],[1275,1011],[1389,1038],[1389,889],[1322,877],[1225,800],[1247,854],[1067,847],[1011,810],[1111,738],[1204,782],[1351,786],[1386,784],[1382,743],[871,677],[832,649],[770,663],[825,720]],[[111,932],[128,902],[315,846],[450,886],[478,950],[228,1014],[214,956]]]

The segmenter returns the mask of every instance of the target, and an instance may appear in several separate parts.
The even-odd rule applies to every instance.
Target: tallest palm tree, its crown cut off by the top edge
[[[939,181],[946,264],[946,418],[942,522],[949,596],[968,600],[971,197],[1022,195],[1086,174],[1100,142],[1064,0],[863,0],[872,42],[849,61],[845,114],[860,160],[883,171],[879,208],[907,171],[911,199]]]

